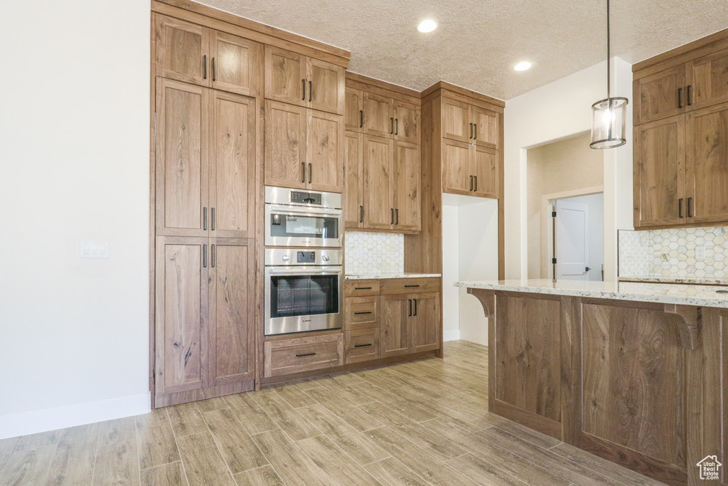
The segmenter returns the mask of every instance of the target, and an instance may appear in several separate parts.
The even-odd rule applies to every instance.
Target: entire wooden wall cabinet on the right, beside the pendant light
[[[633,66],[637,229],[728,222],[728,31]]]

